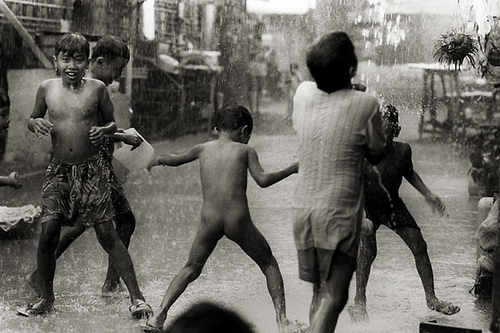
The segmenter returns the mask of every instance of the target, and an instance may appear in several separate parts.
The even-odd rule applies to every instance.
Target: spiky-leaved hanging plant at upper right
[[[472,67],[475,66],[477,52],[477,42],[471,35],[452,30],[437,40],[433,56],[440,63],[447,66],[453,64],[455,70],[460,70],[465,59]]]

